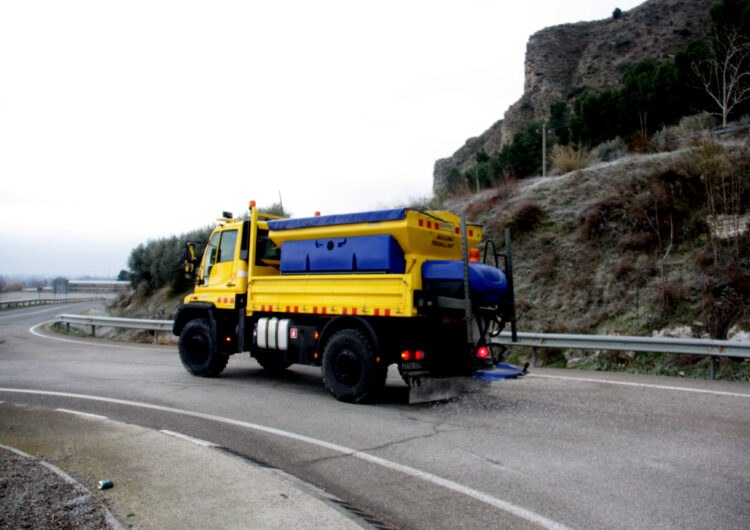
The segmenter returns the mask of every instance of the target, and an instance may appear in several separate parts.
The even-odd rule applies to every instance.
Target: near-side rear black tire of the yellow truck
[[[357,329],[333,334],[323,350],[323,383],[339,401],[361,403],[383,387],[386,368],[375,359],[367,336]]]

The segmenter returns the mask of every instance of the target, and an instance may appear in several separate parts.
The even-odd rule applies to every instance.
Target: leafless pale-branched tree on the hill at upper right
[[[711,31],[705,55],[692,63],[700,88],[718,107],[717,116],[727,126],[732,110],[750,100],[750,42],[739,28]]]

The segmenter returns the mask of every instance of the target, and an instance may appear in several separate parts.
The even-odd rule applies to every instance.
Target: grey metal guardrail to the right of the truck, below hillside
[[[513,342],[509,332],[490,339],[493,344],[528,346],[533,348],[536,364],[536,348],[574,350],[637,351],[649,353],[671,353],[680,355],[705,355],[711,357],[711,379],[716,378],[718,357],[750,359],[750,342],[713,339],[676,339],[668,337],[628,337],[617,335],[566,335],[556,333],[518,333]]]

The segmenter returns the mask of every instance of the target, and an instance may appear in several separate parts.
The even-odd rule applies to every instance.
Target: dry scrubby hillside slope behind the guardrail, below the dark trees
[[[675,151],[507,181],[445,206],[483,223],[498,242],[512,227],[521,330],[747,340],[750,216],[740,206],[733,229],[712,229],[706,176],[731,168],[737,189],[744,186],[737,200],[748,204],[748,139],[692,136]],[[633,360],[557,355],[565,366]]]

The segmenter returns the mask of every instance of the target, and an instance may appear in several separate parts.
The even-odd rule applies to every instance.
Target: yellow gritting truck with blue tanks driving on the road
[[[501,360],[490,335],[515,332],[508,231],[499,255],[481,226],[445,211],[288,219],[251,202],[249,218],[218,221],[202,259],[185,245],[195,289],[173,333],[193,375],[249,352],[267,370],[320,366],[333,396],[362,402],[396,364],[410,402],[443,399]]]

